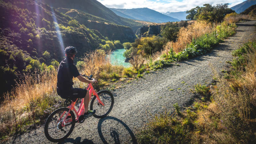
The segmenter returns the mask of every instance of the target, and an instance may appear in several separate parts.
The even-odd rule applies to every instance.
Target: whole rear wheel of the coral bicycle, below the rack
[[[65,117],[68,114],[68,108],[59,108],[52,112],[52,114],[47,118],[44,125],[45,137],[52,142],[60,142],[66,139],[75,127],[75,115],[73,111],[70,111],[71,117]],[[64,121],[65,126],[62,126]]]

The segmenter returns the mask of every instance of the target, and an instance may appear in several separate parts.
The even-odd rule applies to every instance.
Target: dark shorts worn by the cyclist
[[[57,90],[58,92],[58,90]],[[81,88],[72,88],[69,92],[58,92],[58,95],[62,99],[70,99],[72,101],[76,101],[77,98],[84,98],[86,95],[87,90]]]

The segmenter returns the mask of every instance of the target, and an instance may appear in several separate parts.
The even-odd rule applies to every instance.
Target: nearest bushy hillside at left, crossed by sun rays
[[[81,57],[105,40],[98,31],[40,1],[1,0],[0,21],[1,95],[16,84],[17,75],[58,65],[66,46],[75,46]]]

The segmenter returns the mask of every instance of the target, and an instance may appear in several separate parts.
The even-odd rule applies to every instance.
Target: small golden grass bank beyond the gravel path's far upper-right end
[[[242,20],[255,20],[256,17],[253,17],[251,15],[245,15],[245,14],[237,14],[237,15],[230,15],[230,16],[226,16],[224,18],[225,21],[227,21],[228,23],[235,23],[235,22],[239,22]]]

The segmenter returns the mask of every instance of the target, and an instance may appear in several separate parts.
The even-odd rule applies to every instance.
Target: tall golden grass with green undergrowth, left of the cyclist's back
[[[38,123],[44,117],[44,108],[55,101],[47,97],[54,93],[57,72],[27,74],[24,80],[11,93],[4,94],[5,100],[0,107],[0,138],[4,135],[23,131],[23,126]],[[40,115],[37,117],[36,115]]]

